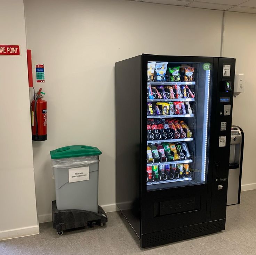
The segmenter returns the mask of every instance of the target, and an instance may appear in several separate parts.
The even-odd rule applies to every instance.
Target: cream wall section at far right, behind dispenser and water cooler
[[[236,58],[236,73],[245,74],[245,92],[234,99],[234,125],[245,132],[242,190],[256,189],[256,15],[226,12],[223,57]]]

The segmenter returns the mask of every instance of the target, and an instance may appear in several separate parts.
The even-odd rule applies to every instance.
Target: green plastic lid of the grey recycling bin
[[[71,145],[50,151],[52,159],[88,157],[100,155],[101,151],[97,147],[87,145]]]

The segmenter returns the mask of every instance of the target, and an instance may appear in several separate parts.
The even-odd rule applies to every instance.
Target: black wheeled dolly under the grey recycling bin
[[[85,210],[57,210],[56,201],[52,202],[51,215],[53,228],[57,234],[62,236],[64,230],[81,227],[103,226],[107,222],[107,215],[101,206],[98,206],[98,213]]]

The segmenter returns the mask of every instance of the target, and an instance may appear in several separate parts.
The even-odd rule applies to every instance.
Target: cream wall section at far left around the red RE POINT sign
[[[22,0],[0,0],[0,44],[21,56],[0,56],[0,240],[39,233],[35,203],[26,37]]]

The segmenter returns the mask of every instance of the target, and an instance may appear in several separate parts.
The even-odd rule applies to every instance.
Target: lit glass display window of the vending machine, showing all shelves
[[[204,184],[212,63],[147,61],[147,191]]]

